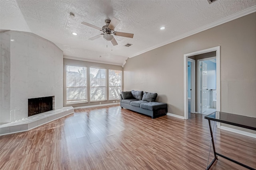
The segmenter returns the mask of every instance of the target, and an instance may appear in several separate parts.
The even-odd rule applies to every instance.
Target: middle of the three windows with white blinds
[[[106,100],[106,69],[90,68],[90,101]]]

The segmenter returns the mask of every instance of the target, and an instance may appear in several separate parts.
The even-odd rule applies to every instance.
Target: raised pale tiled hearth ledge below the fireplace
[[[60,117],[64,117],[71,113],[74,113],[74,108],[72,106],[63,107],[61,109],[51,110],[37,115],[32,115],[30,117],[18,121],[2,124],[0,125],[0,136],[28,131],[30,129],[33,129],[50,121],[54,121],[56,119],[59,119]]]

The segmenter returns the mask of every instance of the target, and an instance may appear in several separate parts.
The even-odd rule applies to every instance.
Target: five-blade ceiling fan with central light
[[[111,41],[112,45],[118,45],[118,43],[116,42],[116,39],[114,38],[113,35],[121,36],[121,37],[128,37],[128,38],[133,38],[133,35],[134,35],[132,33],[123,33],[123,32],[114,31],[116,25],[118,25],[119,22],[120,21],[118,19],[113,17],[112,20],[105,20],[106,25],[104,25],[102,28],[97,27],[97,26],[92,25],[87,22],[82,22],[82,24],[87,25],[92,28],[95,28],[95,29],[98,29],[103,32],[102,34],[99,34],[99,35],[96,35],[95,37],[89,38],[90,40],[94,40],[94,39],[97,39],[97,38],[103,36],[103,38],[106,41]]]

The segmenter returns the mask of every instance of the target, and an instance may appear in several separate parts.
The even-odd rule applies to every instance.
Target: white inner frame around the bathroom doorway
[[[216,59],[216,91],[217,91],[217,57],[209,57],[205,59],[199,59],[197,60],[197,113],[201,113],[201,78],[202,74],[200,74],[200,61],[207,61],[211,59]],[[216,108],[217,109],[217,108]]]

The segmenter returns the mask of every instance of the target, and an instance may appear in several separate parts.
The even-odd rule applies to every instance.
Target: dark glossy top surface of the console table
[[[246,129],[252,129],[256,131],[256,117],[248,117],[243,115],[235,115],[231,113],[216,111],[209,115],[206,115],[204,119],[218,121],[221,123],[226,123],[238,127],[244,127]]]

